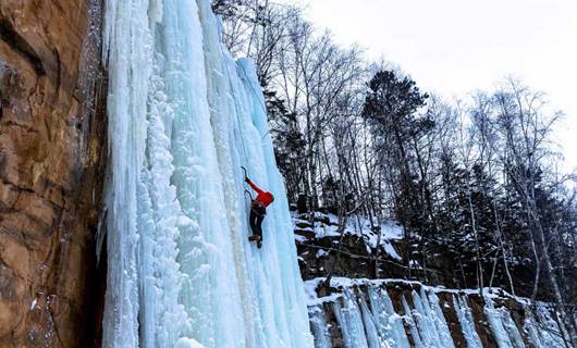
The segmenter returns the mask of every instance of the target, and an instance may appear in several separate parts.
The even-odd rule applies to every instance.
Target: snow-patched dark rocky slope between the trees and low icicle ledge
[[[318,236],[315,231],[339,229],[337,222],[331,221],[323,212],[316,212],[311,220],[309,213],[296,213],[293,210],[293,224],[300,275],[305,281],[329,274],[349,278],[375,278],[378,274],[380,278],[406,278],[427,284],[442,284],[446,287],[462,286],[457,281],[454,264],[446,258],[447,252],[435,252],[426,269],[419,264],[412,264],[409,269],[406,262],[391,257],[384,250],[379,252],[379,262],[376,262],[377,250],[370,240],[367,240],[370,238],[366,233],[345,228],[342,236],[340,233]],[[366,228],[369,229],[368,226]],[[407,246],[402,239],[389,240],[383,237],[381,245],[389,245],[389,248],[396,250],[398,254],[407,254]]]

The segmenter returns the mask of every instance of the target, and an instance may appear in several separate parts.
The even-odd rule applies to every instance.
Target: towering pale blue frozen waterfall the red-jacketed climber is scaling
[[[312,347],[283,181],[249,61],[208,0],[106,0],[105,347]],[[273,192],[247,240],[241,166]]]

